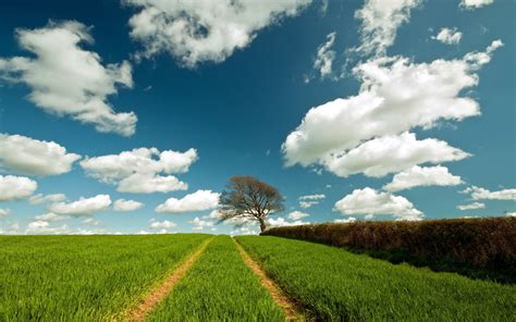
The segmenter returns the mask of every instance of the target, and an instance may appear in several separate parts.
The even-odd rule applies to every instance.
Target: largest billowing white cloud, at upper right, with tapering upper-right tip
[[[359,64],[359,94],[310,109],[282,145],[286,165],[324,164],[369,139],[479,115],[479,104],[462,95],[478,84],[474,72],[500,46],[493,41],[486,52],[458,60],[414,63],[397,57]]]

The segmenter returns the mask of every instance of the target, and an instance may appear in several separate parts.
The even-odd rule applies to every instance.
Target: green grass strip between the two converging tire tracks
[[[216,237],[150,321],[284,321],[229,236]]]

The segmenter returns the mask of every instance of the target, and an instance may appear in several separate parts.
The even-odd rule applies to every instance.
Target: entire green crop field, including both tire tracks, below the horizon
[[[4,236],[0,262],[0,321],[516,321],[514,285],[273,236]]]

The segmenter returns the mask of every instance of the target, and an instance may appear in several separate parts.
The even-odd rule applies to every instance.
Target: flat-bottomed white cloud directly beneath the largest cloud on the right
[[[458,161],[469,156],[445,141],[417,140],[415,134],[404,133],[368,140],[343,156],[332,154],[323,163],[328,171],[342,177],[357,173],[381,177],[420,163]]]

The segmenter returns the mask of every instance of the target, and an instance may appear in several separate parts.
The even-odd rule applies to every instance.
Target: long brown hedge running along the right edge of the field
[[[394,263],[516,283],[516,218],[272,227],[262,235],[344,247]]]

